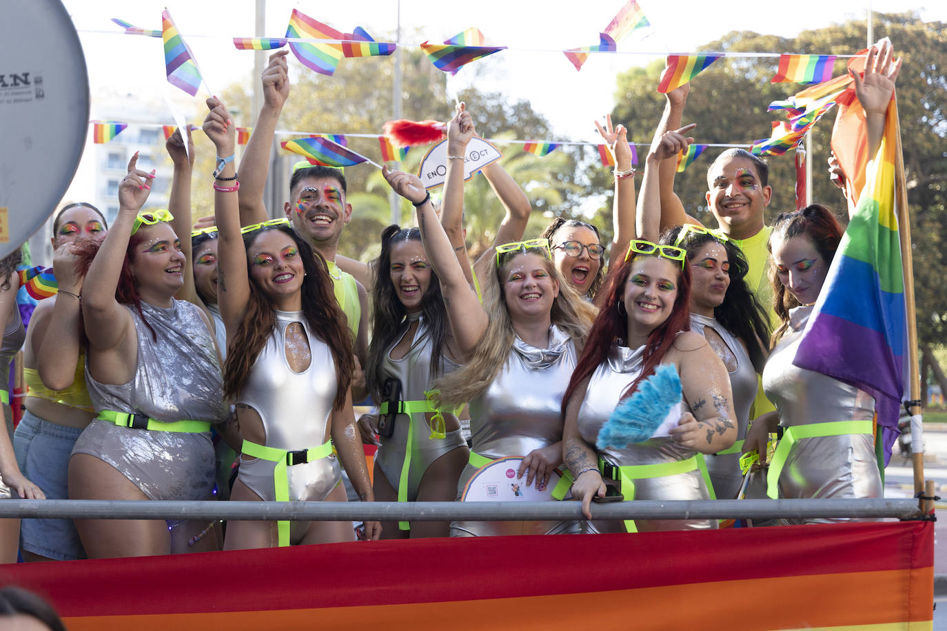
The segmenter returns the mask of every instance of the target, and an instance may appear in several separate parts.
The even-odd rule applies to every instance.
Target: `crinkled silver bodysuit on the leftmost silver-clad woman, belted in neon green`
[[[137,333],[134,376],[128,383],[100,383],[86,358],[85,380],[96,412],[137,412],[165,422],[226,420],[217,349],[198,307],[180,300],[170,308],[141,303],[156,341],[137,309],[125,308]],[[116,467],[150,500],[207,500],[214,486],[209,431],[119,428],[97,419],[82,430],[72,452]]]

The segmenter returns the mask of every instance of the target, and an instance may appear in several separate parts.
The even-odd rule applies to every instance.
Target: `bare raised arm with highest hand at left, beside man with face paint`
[[[277,50],[270,55],[270,63],[260,78],[263,83],[263,107],[260,108],[257,125],[250,134],[246,149],[243,150],[239,170],[240,223],[244,226],[268,218],[266,203],[263,201],[263,188],[270,172],[270,149],[273,147],[279,114],[290,96],[289,64],[286,62],[288,53],[288,50]],[[217,155],[225,158],[232,153],[231,150],[226,155]]]

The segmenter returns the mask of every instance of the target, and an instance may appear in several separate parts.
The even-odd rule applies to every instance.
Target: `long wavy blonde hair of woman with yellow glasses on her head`
[[[509,318],[503,293],[503,279],[506,277],[505,270],[509,262],[520,254],[522,251],[501,254],[500,265],[494,266],[493,273],[487,274],[483,279],[480,289],[483,293],[483,308],[489,316],[487,329],[477,343],[474,355],[463,367],[440,377],[435,384],[435,388],[440,390],[443,403],[460,405],[483,394],[507,364],[516,332]],[[552,301],[549,318],[552,324],[563,329],[576,344],[577,352],[581,352],[589,324],[595,319],[596,307],[583,300],[576,290],[563,280],[551,260],[545,256],[543,260],[549,277],[559,283],[559,295]]]

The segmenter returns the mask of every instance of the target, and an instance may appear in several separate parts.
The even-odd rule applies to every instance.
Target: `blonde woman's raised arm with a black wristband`
[[[444,295],[444,306],[447,307],[447,315],[451,321],[457,348],[464,357],[469,357],[474,352],[476,344],[480,342],[483,332],[487,330],[487,314],[483,307],[480,307],[474,290],[471,289],[460,268],[460,263],[454,254],[454,247],[440,225],[438,217],[434,214],[431,196],[424,190],[424,185],[420,183],[417,176],[410,173],[389,171],[388,167],[384,167],[382,172],[384,179],[391,184],[395,192],[414,204],[417,209],[421,242],[424,244],[428,261],[438,274],[440,289]],[[460,186],[462,196],[463,170],[459,173],[454,171],[453,174],[452,179],[451,168],[448,167],[448,179],[444,183],[445,205],[447,200],[453,199],[452,193],[456,193],[450,190],[450,187]]]

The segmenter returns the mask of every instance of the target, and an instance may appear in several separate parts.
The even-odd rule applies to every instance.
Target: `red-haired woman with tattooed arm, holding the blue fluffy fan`
[[[658,156],[649,155],[641,203],[657,203]],[[690,270],[680,248],[634,239],[609,273],[599,317],[563,397],[563,460],[575,476],[572,496],[602,497],[606,482],[626,499],[707,500],[701,453],[716,453],[737,437],[736,413],[723,362],[706,340],[689,331]],[[623,448],[594,447],[599,429],[621,399],[634,393],[658,364],[681,377],[684,413],[670,436]],[[644,465],[646,468],[640,468]],[[589,522],[588,532],[712,528],[708,520]]]

